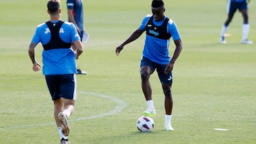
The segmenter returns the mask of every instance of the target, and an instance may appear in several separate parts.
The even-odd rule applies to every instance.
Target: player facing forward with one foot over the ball
[[[149,82],[149,77],[156,70],[165,96],[164,106],[166,115],[164,129],[166,131],[174,131],[174,128],[171,126],[171,112],[173,108],[173,99],[171,95],[171,84],[173,82],[172,70],[176,59],[181,53],[181,36],[178,33],[178,28],[174,21],[164,16],[164,1],[153,0],[151,2],[151,11],[153,14],[144,17],[139,28],[134,31],[124,43],[116,48],[116,53],[119,55],[121,50],[123,50],[124,45],[137,40],[137,38],[146,31],[144,50],[142,52],[142,60],[140,63],[142,91],[148,106],[143,114],[144,116],[156,115],[151,96],[151,85]],[[169,56],[171,37],[176,45],[172,57]]]

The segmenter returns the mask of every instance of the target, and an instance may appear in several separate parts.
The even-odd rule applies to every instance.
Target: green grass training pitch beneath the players
[[[77,76],[71,143],[256,143],[256,48],[240,44],[240,13],[230,24],[228,44],[218,43],[226,1],[166,0],[166,16],[176,21],[183,41],[172,88],[175,131],[163,130],[164,95],[155,73],[151,87],[157,115],[151,133],[136,128],[146,109],[139,76],[144,36],[119,57],[114,52],[151,13],[150,1],[83,2],[90,40],[78,65],[89,74]],[[249,6],[249,38],[256,43],[256,2]],[[45,21],[46,1],[0,1],[0,143],[59,143],[45,79],[33,72],[28,57],[35,28]],[[41,51],[38,45],[40,62]]]

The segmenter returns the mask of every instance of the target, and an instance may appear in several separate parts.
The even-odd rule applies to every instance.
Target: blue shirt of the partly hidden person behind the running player
[[[84,31],[84,20],[83,20],[83,8],[82,0],[67,0],[68,9],[73,9],[73,16],[75,18],[75,23],[78,25],[80,31]],[[70,20],[68,20],[70,21]]]

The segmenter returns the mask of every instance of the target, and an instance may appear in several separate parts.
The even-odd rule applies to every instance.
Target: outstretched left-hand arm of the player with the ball
[[[127,38],[127,40],[124,41],[124,43],[122,43],[116,48],[116,54],[119,55],[121,50],[124,49],[124,45],[127,45],[128,43],[131,43],[132,41],[137,40],[137,38],[139,38],[143,32],[144,31],[140,30],[139,28],[136,31],[134,31],[132,35],[130,35],[129,38]]]

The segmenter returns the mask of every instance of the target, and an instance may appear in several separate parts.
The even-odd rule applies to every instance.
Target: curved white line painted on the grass
[[[78,91],[78,92],[80,92],[82,94],[99,96],[99,97],[102,97],[104,99],[110,99],[112,101],[115,101],[117,103],[117,106],[115,106],[112,111],[109,111],[107,113],[99,113],[95,116],[89,116],[89,117],[85,116],[85,117],[81,117],[81,118],[70,119],[69,122],[84,121],[84,120],[93,119],[93,118],[102,118],[104,116],[110,116],[110,115],[113,115],[115,113],[119,113],[120,111],[122,111],[126,107],[126,102],[125,101],[122,101],[121,99],[117,99],[114,96],[107,96],[107,95],[104,95],[104,94],[97,94],[97,93],[94,93],[94,92],[84,92],[84,91]],[[55,125],[55,121],[54,122],[49,122],[49,123],[37,123],[37,124],[28,124],[28,125],[19,125],[19,126],[6,126],[6,127],[0,127],[0,130],[11,129],[11,128],[31,128],[31,127],[49,126],[49,125]]]

